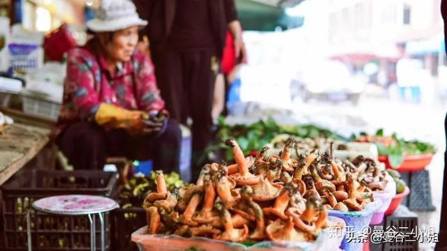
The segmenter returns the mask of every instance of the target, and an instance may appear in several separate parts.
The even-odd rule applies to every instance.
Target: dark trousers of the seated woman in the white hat
[[[102,170],[106,158],[153,161],[153,169],[179,172],[182,133],[177,122],[168,121],[159,136],[131,136],[124,130],[105,130],[95,123],[80,121],[64,128],[57,144],[75,169]]]

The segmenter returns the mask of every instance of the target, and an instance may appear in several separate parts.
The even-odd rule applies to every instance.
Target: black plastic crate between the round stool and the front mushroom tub
[[[118,208],[112,216],[112,248],[113,251],[138,251],[137,245],[131,241],[131,234],[147,225],[146,213],[142,208]]]

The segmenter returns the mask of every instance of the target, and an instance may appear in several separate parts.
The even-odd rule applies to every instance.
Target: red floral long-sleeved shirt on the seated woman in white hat
[[[59,121],[87,119],[101,102],[148,112],[164,108],[149,56],[135,52],[131,61],[120,63],[111,75],[104,57],[95,53],[94,43],[90,40],[85,47],[68,52]]]

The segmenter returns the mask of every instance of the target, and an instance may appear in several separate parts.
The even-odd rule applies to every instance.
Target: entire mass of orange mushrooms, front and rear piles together
[[[234,139],[226,145],[235,164],[205,165],[196,184],[169,192],[163,173],[156,172],[157,191],[143,202],[148,234],[313,241],[335,224],[327,218],[328,209],[360,211],[374,200],[372,190],[383,185],[369,159],[339,162],[317,151],[291,158],[294,139],[269,157],[267,147],[246,158]]]

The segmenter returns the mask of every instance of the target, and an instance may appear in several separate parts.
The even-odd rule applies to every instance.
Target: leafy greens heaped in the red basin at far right
[[[360,132],[360,136],[353,135],[351,139],[356,142],[376,144],[379,155],[387,156],[390,165],[396,168],[402,164],[405,156],[436,153],[436,148],[433,144],[418,140],[405,140],[397,137],[396,133],[393,133],[391,136],[384,136],[383,128],[377,130],[375,135]]]

